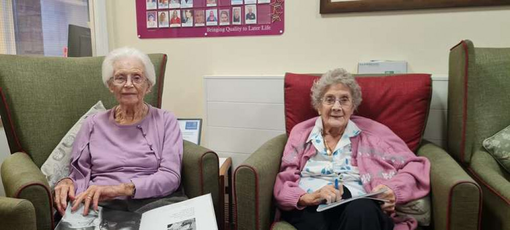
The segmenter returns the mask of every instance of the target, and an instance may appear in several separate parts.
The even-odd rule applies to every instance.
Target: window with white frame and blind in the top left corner
[[[95,42],[94,34],[107,39],[106,27],[94,33],[94,18],[90,13],[105,17],[105,1],[98,0],[0,0],[0,53],[19,55],[67,56],[68,45],[90,50]],[[90,3],[90,4],[89,4]],[[96,5],[90,10],[89,6]],[[101,8],[100,8],[101,7]],[[99,8],[99,9],[98,9]],[[89,13],[90,12],[90,13]],[[96,21],[97,21],[96,19]],[[106,21],[101,21],[106,24]],[[71,30],[68,41],[69,27]],[[79,33],[79,34],[76,34]],[[69,44],[68,44],[69,42]],[[104,43],[101,49],[104,49]],[[106,47],[107,49],[107,47]],[[71,48],[69,48],[71,52]],[[82,52],[83,53],[83,52]],[[87,52],[85,52],[87,53]],[[104,53],[104,51],[102,52]],[[69,55],[71,56],[71,55]]]

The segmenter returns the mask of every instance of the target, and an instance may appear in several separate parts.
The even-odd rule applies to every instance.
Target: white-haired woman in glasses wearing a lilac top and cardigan
[[[87,215],[100,201],[166,197],[181,191],[183,142],[177,119],[144,102],[155,83],[149,57],[132,48],[114,50],[103,61],[102,75],[119,105],[88,117],[77,134],[70,174],[55,186],[54,202],[61,215],[67,199],[73,201],[72,211],[84,203]]]

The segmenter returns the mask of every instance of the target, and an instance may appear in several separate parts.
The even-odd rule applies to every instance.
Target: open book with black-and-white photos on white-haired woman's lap
[[[143,214],[99,207],[83,216],[84,205],[71,212],[69,201],[65,215],[55,230],[141,229],[141,230],[218,230],[211,194],[168,204]]]

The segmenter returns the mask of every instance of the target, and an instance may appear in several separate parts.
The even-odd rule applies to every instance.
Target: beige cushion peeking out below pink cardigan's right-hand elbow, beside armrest
[[[418,221],[420,226],[430,225],[430,197],[426,197],[409,201],[405,204],[397,205],[397,214],[399,216],[412,216]]]

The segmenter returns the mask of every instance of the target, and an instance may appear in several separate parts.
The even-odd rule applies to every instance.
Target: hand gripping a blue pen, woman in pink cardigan
[[[342,199],[343,186],[340,185],[339,189],[335,189],[332,185],[327,185],[313,193],[307,193],[299,197],[297,204],[302,206],[318,205],[321,203],[332,203]]]

